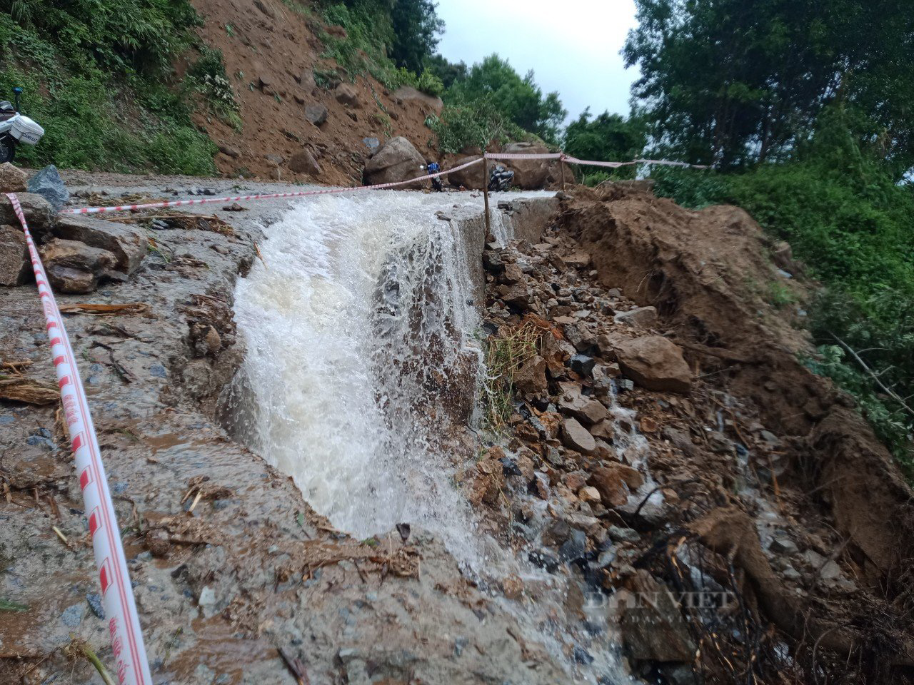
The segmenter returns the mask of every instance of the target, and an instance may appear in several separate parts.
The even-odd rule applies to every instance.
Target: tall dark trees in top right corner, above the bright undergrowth
[[[780,159],[843,101],[914,161],[914,13],[906,0],[636,0],[623,50],[654,146],[728,168]]]

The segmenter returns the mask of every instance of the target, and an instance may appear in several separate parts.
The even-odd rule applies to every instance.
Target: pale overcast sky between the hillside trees
[[[637,68],[619,51],[635,26],[634,0],[439,0],[439,52],[467,65],[497,52],[544,93],[558,90],[571,118],[590,105],[628,114]]]

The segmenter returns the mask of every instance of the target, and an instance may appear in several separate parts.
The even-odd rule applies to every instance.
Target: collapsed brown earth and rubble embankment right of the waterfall
[[[802,311],[767,301],[799,269],[745,212],[648,188],[575,188],[555,232],[484,255],[516,356],[511,438],[486,455],[508,496],[484,461],[479,500],[608,595],[645,678],[908,681],[910,490],[798,360]]]

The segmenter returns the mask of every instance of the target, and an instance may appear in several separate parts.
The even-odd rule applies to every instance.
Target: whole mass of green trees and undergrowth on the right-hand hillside
[[[807,363],[856,396],[911,477],[914,16],[893,0],[637,5],[625,57],[650,152],[715,168],[659,171],[658,192],[740,205],[791,243],[824,284]]]

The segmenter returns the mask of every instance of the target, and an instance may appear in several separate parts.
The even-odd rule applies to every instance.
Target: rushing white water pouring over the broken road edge
[[[472,409],[481,363],[462,242],[436,216],[459,215],[455,197],[479,213],[469,195],[303,201],[269,228],[267,266],[239,279],[245,437],[358,536],[410,522],[470,544],[460,456],[441,441],[454,406]]]

